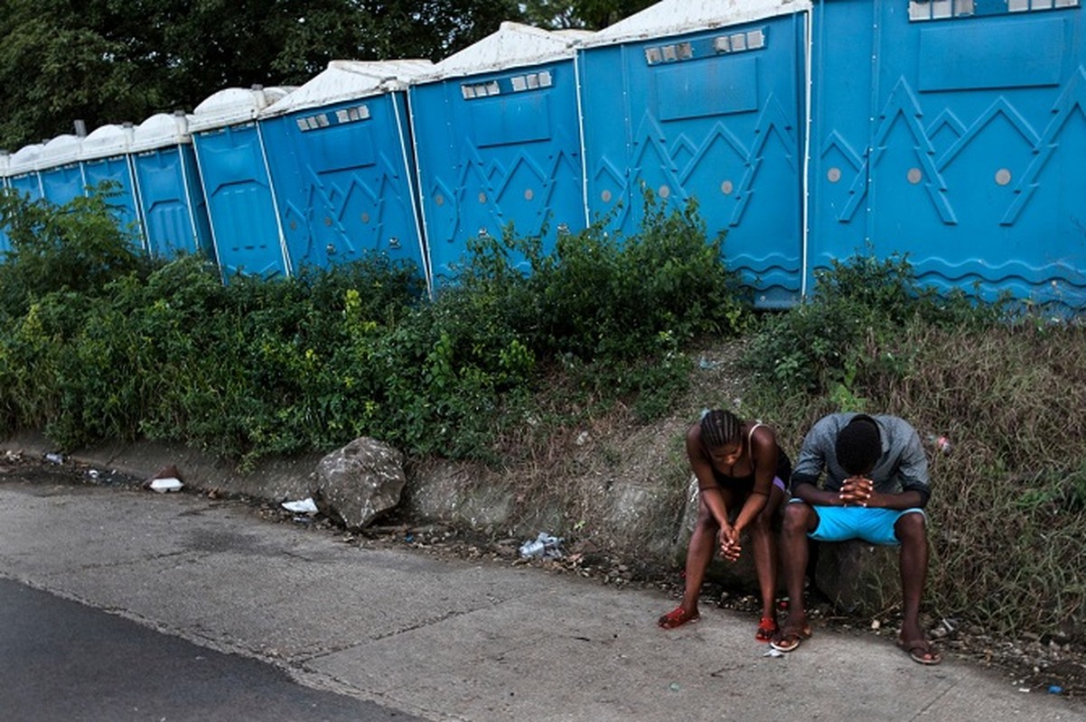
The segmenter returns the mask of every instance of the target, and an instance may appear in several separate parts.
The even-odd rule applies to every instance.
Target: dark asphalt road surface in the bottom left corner
[[[409,722],[282,670],[0,579],[5,722]]]

